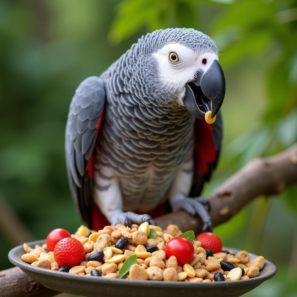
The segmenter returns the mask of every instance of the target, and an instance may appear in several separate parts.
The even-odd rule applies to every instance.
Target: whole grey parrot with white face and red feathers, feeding
[[[160,215],[169,205],[198,214],[211,229],[198,196],[221,148],[225,78],[218,60],[215,43],[199,31],[157,30],[80,83],[65,151],[70,190],[90,228],[155,224],[146,213]],[[212,125],[208,110],[217,115]]]

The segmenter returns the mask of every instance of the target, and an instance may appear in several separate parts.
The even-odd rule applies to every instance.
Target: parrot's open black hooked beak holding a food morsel
[[[211,110],[213,118],[222,106],[226,83],[221,65],[214,60],[205,72],[198,72],[195,80],[185,86],[186,92],[182,99],[185,108],[198,119],[204,119],[205,113]]]

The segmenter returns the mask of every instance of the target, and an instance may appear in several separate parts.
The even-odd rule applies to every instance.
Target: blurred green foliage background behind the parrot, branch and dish
[[[291,0],[0,2],[0,270],[16,244],[80,225],[64,129],[78,84],[148,31],[192,27],[217,44],[226,76],[225,138],[205,194],[256,156],[297,140],[297,3]],[[260,197],[215,228],[225,245],[277,265],[245,296],[297,296],[297,187]]]

